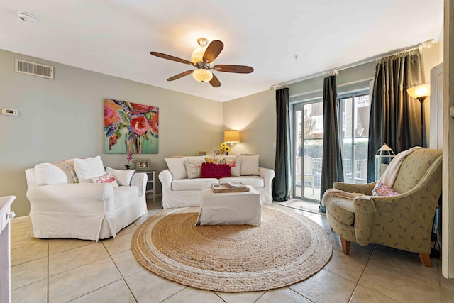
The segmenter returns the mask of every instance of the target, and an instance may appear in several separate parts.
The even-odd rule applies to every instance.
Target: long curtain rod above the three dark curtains
[[[320,77],[320,76],[323,76],[323,75],[336,75],[337,76],[338,72],[340,70],[347,70],[348,68],[357,67],[358,65],[363,65],[363,64],[366,64],[366,63],[369,63],[369,62],[373,62],[375,60],[381,59],[382,57],[387,57],[389,55],[402,53],[404,51],[411,51],[411,50],[414,50],[416,48],[430,48],[433,45],[432,41],[433,41],[433,39],[430,39],[430,40],[427,40],[427,41],[424,41],[424,42],[421,42],[421,43],[418,43],[418,44],[415,44],[415,45],[411,45],[411,46],[406,47],[406,48],[398,48],[396,50],[390,50],[387,53],[382,53],[380,55],[375,55],[373,57],[368,57],[366,59],[363,59],[363,60],[360,60],[360,61],[357,61],[357,62],[354,62],[354,63],[350,63],[348,65],[343,65],[341,67],[336,67],[336,68],[333,68],[331,70],[326,70],[324,72],[316,72],[315,74],[312,74],[312,75],[308,75],[308,76],[301,77],[301,78],[298,78],[298,79],[290,80],[290,81],[287,81],[287,82],[282,82],[280,84],[275,84],[275,85],[272,85],[270,87],[270,90],[281,89],[283,87],[288,87],[289,84],[301,82],[301,81],[312,79],[312,78],[315,78],[315,77]]]

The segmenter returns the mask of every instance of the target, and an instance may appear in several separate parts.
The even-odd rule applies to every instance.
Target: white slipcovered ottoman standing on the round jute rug
[[[196,225],[262,225],[262,202],[258,191],[215,194],[211,187],[201,190],[201,204]]]

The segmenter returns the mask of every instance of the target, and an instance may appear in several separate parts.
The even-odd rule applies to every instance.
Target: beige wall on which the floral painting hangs
[[[55,67],[55,79],[14,72],[14,58]],[[16,195],[12,210],[26,216],[24,170],[39,162],[101,155],[104,165],[124,168],[126,155],[103,153],[104,98],[160,108],[159,153],[134,155],[165,169],[170,155],[196,155],[218,148],[222,104],[138,82],[0,50],[0,108],[20,116],[0,116],[0,196]],[[134,164],[134,163],[132,163]],[[160,192],[160,183],[157,183]]]

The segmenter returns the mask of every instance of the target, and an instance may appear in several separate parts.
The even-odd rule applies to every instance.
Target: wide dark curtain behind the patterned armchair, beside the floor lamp
[[[384,143],[395,154],[425,146],[421,142],[421,103],[406,92],[419,84],[423,84],[419,50],[384,57],[377,63],[370,103],[367,183],[375,181],[375,154]]]

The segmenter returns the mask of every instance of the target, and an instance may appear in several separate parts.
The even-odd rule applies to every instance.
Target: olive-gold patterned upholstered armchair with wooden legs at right
[[[393,160],[394,161],[394,160]],[[419,253],[421,263],[430,267],[433,216],[441,194],[441,150],[419,148],[397,167],[392,196],[374,196],[375,182],[346,184],[335,182],[334,191],[323,196],[326,215],[333,231],[341,237],[348,255],[353,241],[366,246],[380,244]],[[395,167],[395,166],[394,166]],[[387,169],[392,168],[392,163]]]

